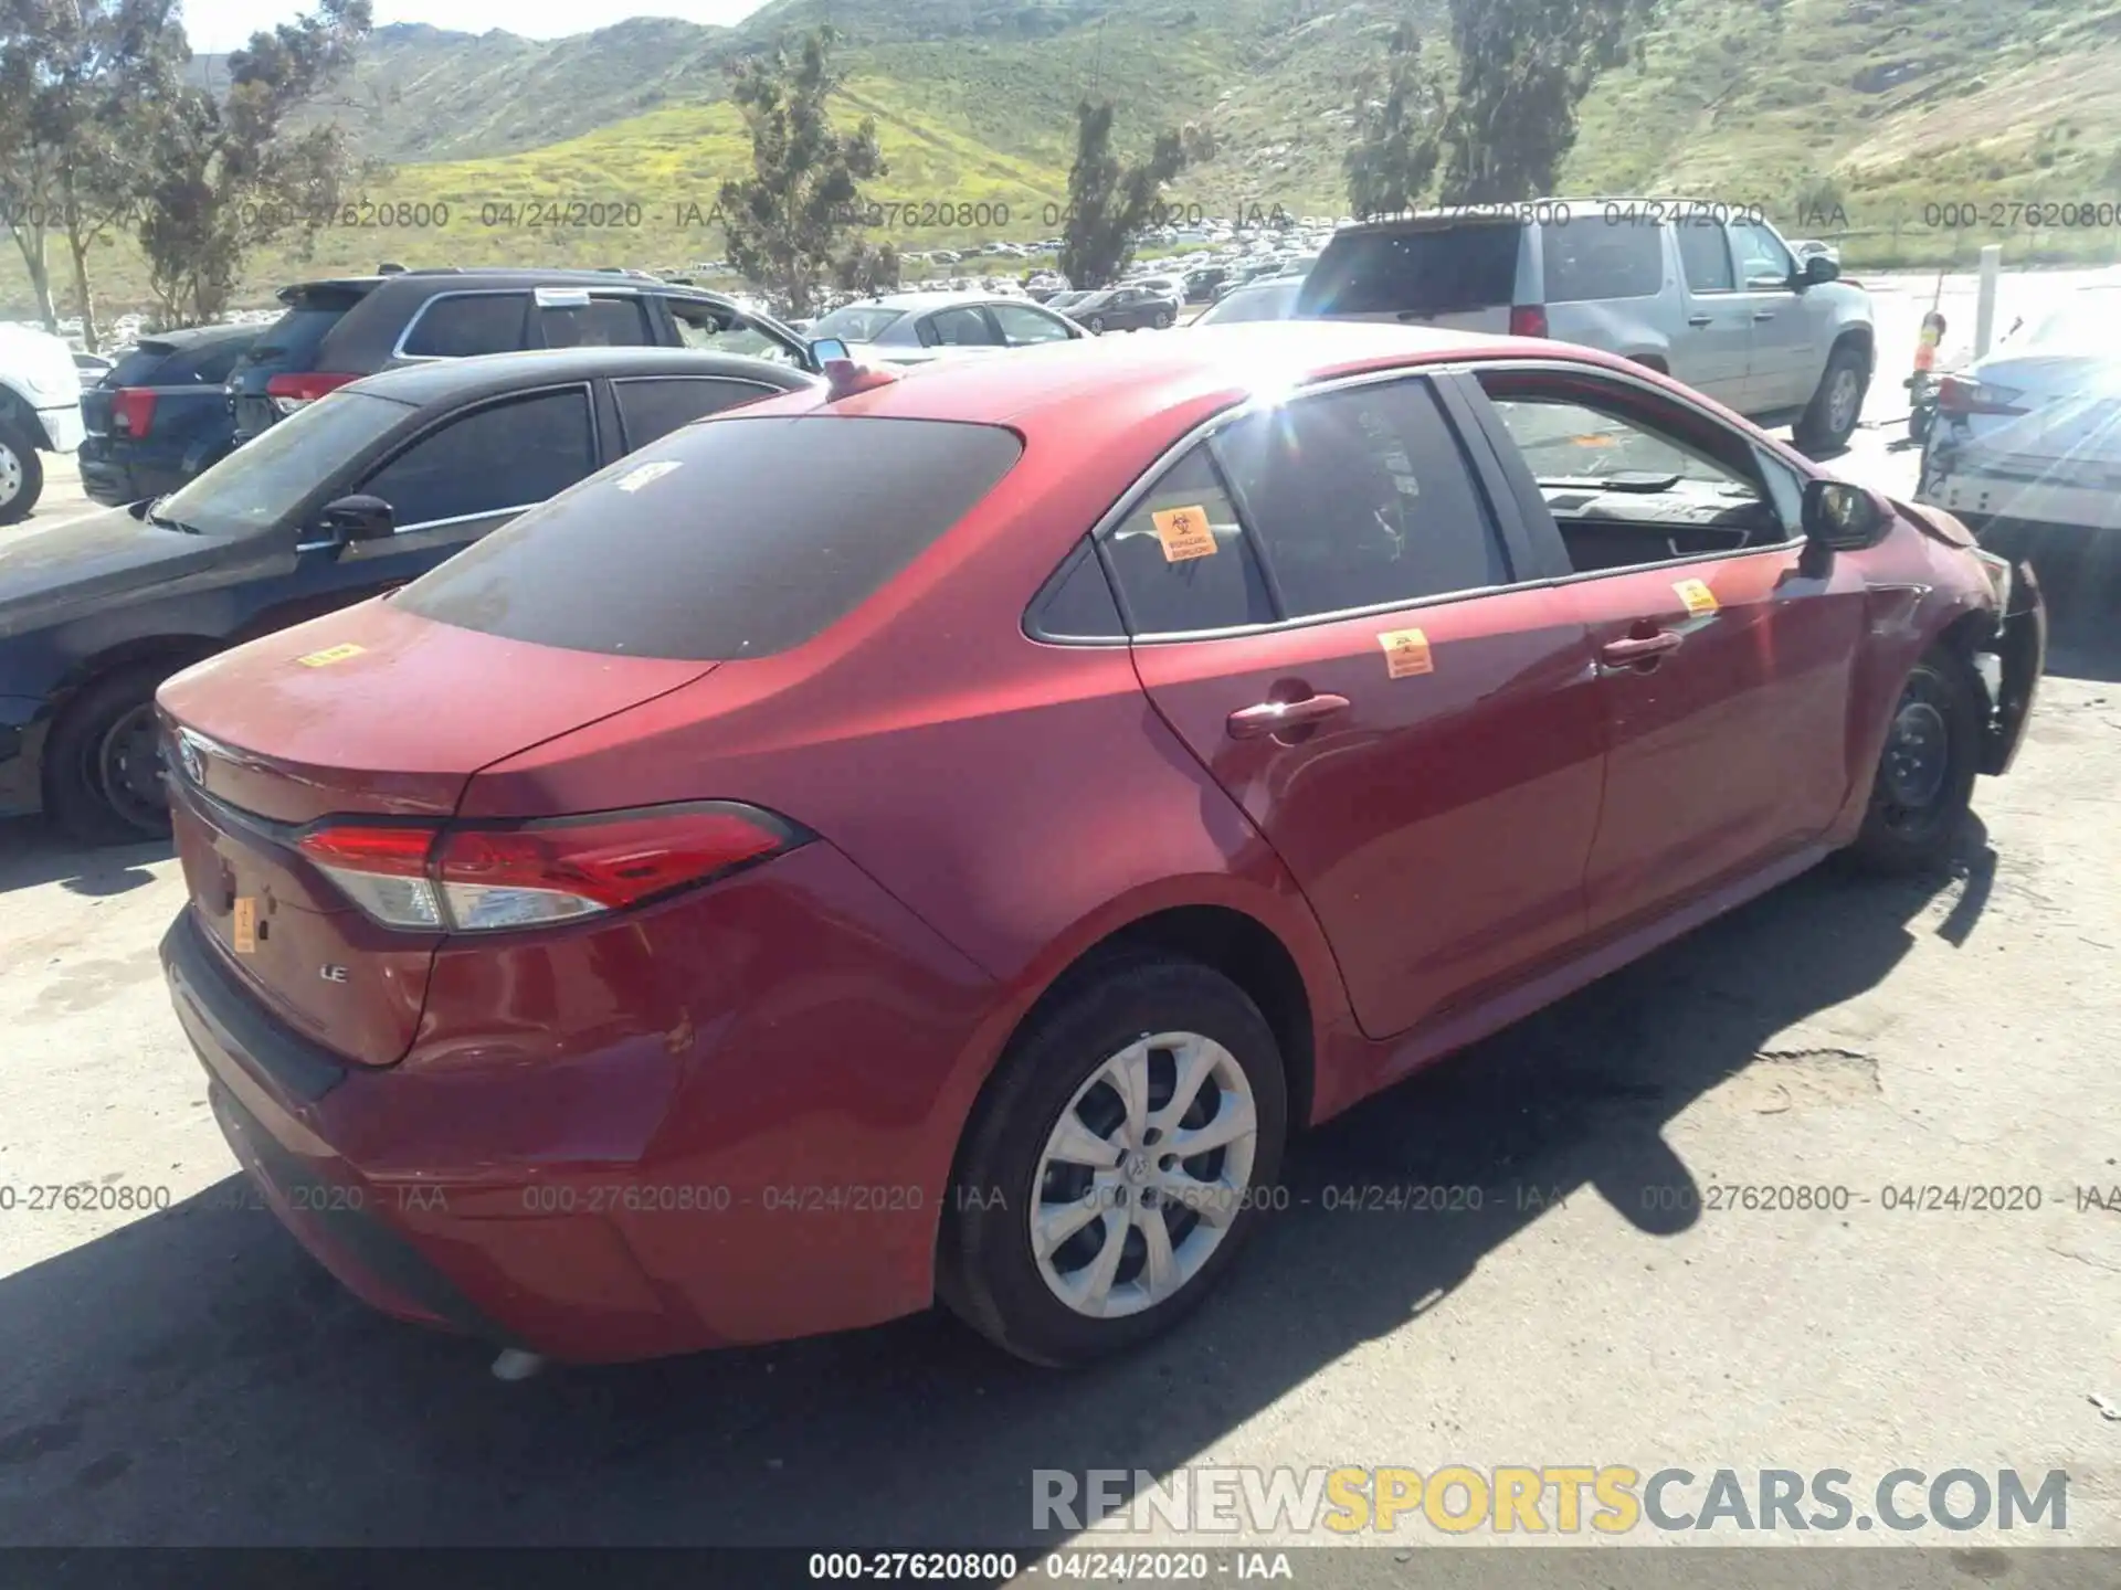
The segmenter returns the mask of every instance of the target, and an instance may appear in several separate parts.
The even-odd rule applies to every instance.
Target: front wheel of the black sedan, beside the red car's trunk
[[[170,833],[153,755],[155,689],[172,670],[121,668],[89,683],[59,712],[45,742],[45,816],[76,844],[142,844]],[[155,780],[155,782],[146,782]]]

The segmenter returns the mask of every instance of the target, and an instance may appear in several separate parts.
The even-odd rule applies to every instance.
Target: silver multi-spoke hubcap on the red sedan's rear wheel
[[[1031,1253],[1054,1297],[1120,1319],[1177,1295],[1243,1211],[1258,1143],[1251,1083],[1213,1039],[1158,1032],[1105,1060],[1033,1179]]]

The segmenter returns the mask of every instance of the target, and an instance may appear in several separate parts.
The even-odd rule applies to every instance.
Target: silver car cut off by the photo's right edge
[[[1915,500],[1973,524],[2121,530],[2121,278],[1939,379]]]

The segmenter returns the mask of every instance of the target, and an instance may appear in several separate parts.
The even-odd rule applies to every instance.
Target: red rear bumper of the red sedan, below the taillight
[[[350,1291],[564,1361],[662,1357],[933,1300],[993,986],[829,846],[774,869],[602,933],[443,948],[397,1066],[282,1024],[189,907],[161,956],[229,1147]],[[655,988],[609,984],[621,958]]]

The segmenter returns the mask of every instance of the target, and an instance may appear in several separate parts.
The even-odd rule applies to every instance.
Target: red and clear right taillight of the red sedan
[[[327,818],[297,848],[386,926],[490,933],[619,912],[808,837],[755,806],[696,801],[505,827]]]

